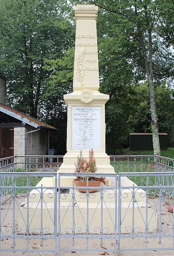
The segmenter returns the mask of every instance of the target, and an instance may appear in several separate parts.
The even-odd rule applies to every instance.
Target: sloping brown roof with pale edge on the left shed
[[[35,128],[39,128],[39,127],[43,127],[43,128],[47,128],[50,130],[57,130],[55,127],[44,123],[42,121],[39,121],[38,119],[31,117],[29,115],[26,115],[18,110],[15,110],[12,107],[9,107],[7,105],[3,105],[0,103],[0,111],[5,113],[6,115],[12,116],[18,120],[20,120],[23,123],[27,123]]]

